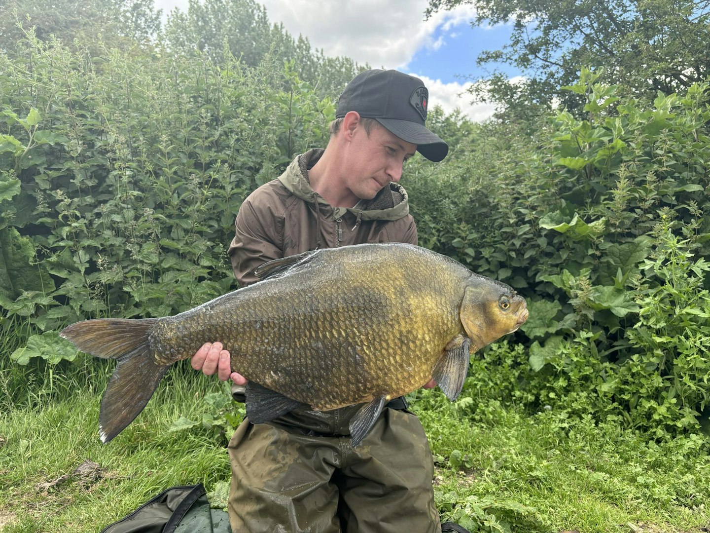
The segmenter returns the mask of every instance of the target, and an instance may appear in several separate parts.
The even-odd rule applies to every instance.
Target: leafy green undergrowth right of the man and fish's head
[[[694,431],[707,416],[709,86],[652,107],[588,69],[568,88],[586,117],[551,113],[536,146],[488,124],[470,154],[410,163],[420,243],[527,298],[518,401],[599,419],[611,404],[658,436]]]

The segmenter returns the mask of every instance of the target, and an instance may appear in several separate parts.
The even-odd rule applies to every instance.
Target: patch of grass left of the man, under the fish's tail
[[[0,528],[4,533],[96,532],[165,488],[210,487],[229,478],[224,441],[207,431],[168,431],[182,415],[200,417],[207,409],[200,397],[219,391],[216,379],[175,368],[138,419],[107,445],[97,433],[106,377],[97,375],[98,386],[81,387],[82,381],[74,380],[71,391],[28,394],[0,414],[0,523],[3,515],[14,517]],[[53,484],[86,460],[101,470]]]

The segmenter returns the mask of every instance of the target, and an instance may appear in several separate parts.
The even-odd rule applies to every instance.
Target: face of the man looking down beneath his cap
[[[402,177],[402,166],[417,151],[417,145],[400,139],[376,124],[368,135],[362,124],[353,132],[348,149],[346,187],[363,200],[371,200],[391,181]]]

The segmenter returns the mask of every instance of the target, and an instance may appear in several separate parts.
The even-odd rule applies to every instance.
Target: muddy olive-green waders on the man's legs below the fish
[[[358,406],[245,420],[229,442],[234,532],[439,533],[434,465],[419,419],[385,409],[360,446]]]

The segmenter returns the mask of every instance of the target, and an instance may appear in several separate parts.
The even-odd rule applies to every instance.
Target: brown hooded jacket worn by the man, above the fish
[[[391,183],[355,208],[334,208],[316,193],[308,169],[322,154],[322,149],[313,149],[297,156],[278,179],[261,185],[242,203],[229,246],[242,286],[257,281],[257,266],[312,249],[364,242],[417,244],[417,227],[401,185]]]

